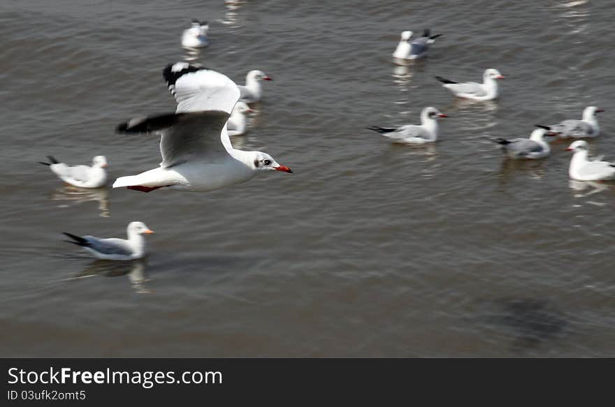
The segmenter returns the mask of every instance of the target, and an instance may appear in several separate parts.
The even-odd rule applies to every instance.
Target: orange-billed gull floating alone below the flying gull
[[[101,239],[94,236],[77,236],[72,233],[62,232],[73,240],[64,242],[82,246],[89,251],[95,258],[102,260],[134,260],[145,256],[144,234],[153,233],[143,222],[131,222],[126,228],[128,239]]]

